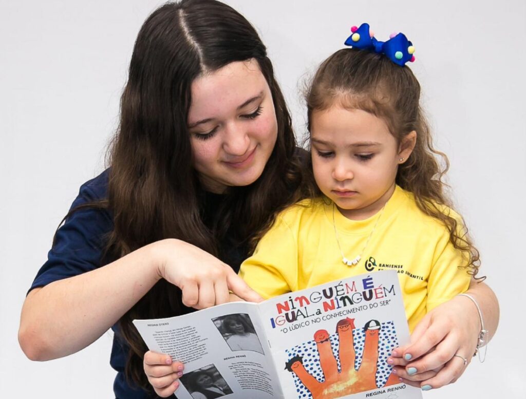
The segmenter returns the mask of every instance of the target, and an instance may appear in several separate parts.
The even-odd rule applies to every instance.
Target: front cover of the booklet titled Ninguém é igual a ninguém
[[[417,399],[387,358],[409,343],[396,271],[362,274],[259,304],[286,398]]]

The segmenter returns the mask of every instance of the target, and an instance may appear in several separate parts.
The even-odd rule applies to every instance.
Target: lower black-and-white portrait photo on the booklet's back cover
[[[180,380],[194,399],[215,399],[232,393],[230,386],[213,364],[185,373]]]

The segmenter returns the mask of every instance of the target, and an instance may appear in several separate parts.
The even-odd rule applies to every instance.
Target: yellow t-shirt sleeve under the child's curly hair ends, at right
[[[464,223],[462,218],[451,211],[451,216],[458,221],[458,233],[462,234]],[[427,312],[453,296],[466,292],[469,288],[471,275],[466,266],[469,263],[468,254],[454,248],[449,240],[449,231],[444,228],[437,243],[433,265],[428,280]]]

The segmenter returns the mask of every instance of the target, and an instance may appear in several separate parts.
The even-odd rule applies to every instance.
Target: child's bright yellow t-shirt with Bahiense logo
[[[468,289],[467,257],[449,241],[442,222],[417,208],[410,192],[396,187],[382,213],[349,220],[327,200],[305,200],[281,212],[274,226],[242,263],[239,274],[264,298],[378,270],[397,270],[409,329],[442,302]],[[461,220],[449,208],[451,216]],[[367,248],[355,266],[343,264]],[[461,223],[459,223],[461,224]]]

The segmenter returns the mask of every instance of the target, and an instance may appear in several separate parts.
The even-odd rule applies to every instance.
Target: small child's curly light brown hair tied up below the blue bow
[[[382,118],[399,143],[411,131],[416,131],[416,146],[409,159],[399,166],[396,183],[413,193],[423,213],[446,226],[451,243],[468,260],[468,274],[475,277],[480,266],[479,252],[463,220],[459,226],[457,218],[448,211],[452,204],[442,177],[449,168],[449,161],[433,147],[419,100],[420,84],[409,67],[400,67],[381,54],[355,48],[341,49],[321,64],[307,91],[308,129],[310,131],[313,111],[325,110],[338,103]],[[443,159],[444,167],[435,156]],[[321,195],[312,175],[308,178],[308,191],[310,197]]]

